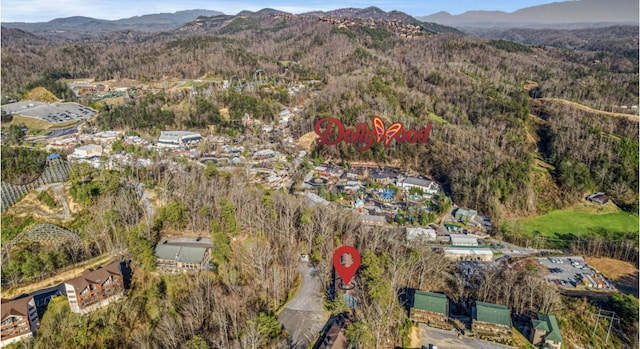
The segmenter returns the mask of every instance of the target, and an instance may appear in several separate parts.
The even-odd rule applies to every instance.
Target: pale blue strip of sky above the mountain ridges
[[[376,6],[384,11],[398,10],[412,16],[427,16],[440,11],[451,14],[473,10],[513,12],[551,2],[553,0],[0,0],[0,18],[2,22],[46,22],[71,16],[114,20],[191,9],[214,10],[234,15],[242,10],[257,11],[265,7],[304,13],[369,6]]]

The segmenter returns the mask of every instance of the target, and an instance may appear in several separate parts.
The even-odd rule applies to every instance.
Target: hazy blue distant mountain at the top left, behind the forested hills
[[[21,29],[34,34],[73,32],[74,34],[95,34],[120,30],[160,32],[178,28],[200,16],[216,16],[222,12],[210,10],[185,10],[175,13],[157,13],[118,20],[104,20],[90,17],[56,18],[49,22],[24,23],[6,22],[4,27]]]

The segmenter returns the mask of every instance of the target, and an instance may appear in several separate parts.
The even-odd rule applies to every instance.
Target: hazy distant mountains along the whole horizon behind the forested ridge
[[[302,16],[329,16],[337,18],[400,20],[409,24],[437,25],[455,28],[587,28],[617,24],[638,24],[637,0],[577,0],[527,7],[512,13],[501,11],[468,11],[460,15],[438,12],[429,16],[411,17],[400,11],[385,12],[377,7],[343,8],[332,11],[314,11]],[[264,12],[288,14],[274,9]],[[237,16],[252,15],[254,12],[242,11]],[[57,18],[48,22],[25,23],[6,22],[3,27],[21,29],[33,34],[63,34],[63,36],[82,36],[117,31],[161,32],[170,31],[193,22],[198,17],[224,15],[212,10],[185,10],[175,13],[158,13],[135,16],[119,20],[103,20],[91,17]],[[230,18],[234,16],[224,16]],[[446,31],[446,30],[444,30]]]

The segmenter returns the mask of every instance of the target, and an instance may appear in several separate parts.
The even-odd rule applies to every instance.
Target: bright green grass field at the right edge
[[[517,222],[526,233],[537,230],[549,237],[556,237],[555,233],[579,235],[600,228],[609,232],[638,231],[638,216],[623,211],[590,213],[569,208],[534,218],[519,219]]]

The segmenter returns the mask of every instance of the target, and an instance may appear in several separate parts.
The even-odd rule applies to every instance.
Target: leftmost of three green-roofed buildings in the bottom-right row
[[[450,329],[449,299],[444,294],[416,290],[409,318],[427,326]]]

